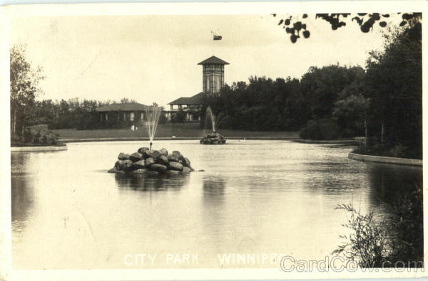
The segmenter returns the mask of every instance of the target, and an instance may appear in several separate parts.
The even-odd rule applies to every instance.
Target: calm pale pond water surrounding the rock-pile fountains
[[[179,150],[205,171],[106,173],[119,152],[143,146],[88,142],[12,153],[14,269],[245,267],[222,265],[218,255],[228,254],[323,259],[347,233],[337,204],[382,214],[380,201],[422,185],[419,167],[350,160],[352,147],[285,141],[155,141],[154,149]],[[197,256],[188,264],[184,254]],[[153,264],[148,255],[156,255]]]

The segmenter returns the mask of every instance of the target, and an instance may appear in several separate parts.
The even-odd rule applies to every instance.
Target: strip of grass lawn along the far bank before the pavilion
[[[53,129],[60,139],[103,139],[123,137],[148,137],[146,127],[131,131],[131,129]],[[156,137],[196,137],[210,132],[210,129],[200,129],[199,124],[159,124]],[[220,129],[224,137],[260,137],[260,138],[297,138],[297,132],[253,132],[243,130]]]

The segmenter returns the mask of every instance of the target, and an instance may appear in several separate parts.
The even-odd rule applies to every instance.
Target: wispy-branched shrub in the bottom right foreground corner
[[[422,189],[407,193],[394,205],[384,203],[391,216],[375,219],[352,204],[337,206],[350,213],[349,235],[332,253],[356,261],[360,267],[423,267],[424,228]],[[399,262],[399,263],[397,263]]]

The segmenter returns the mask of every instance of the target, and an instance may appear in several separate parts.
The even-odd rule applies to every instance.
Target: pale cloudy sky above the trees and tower
[[[250,76],[300,78],[310,66],[361,65],[382,49],[379,26],[360,32],[355,22],[332,31],[306,18],[309,39],[291,43],[281,16],[37,16],[13,18],[10,43],[44,70],[38,99],[115,100],[166,106],[202,91],[202,66],[211,55],[225,65],[225,83]],[[301,15],[295,15],[301,18]],[[222,36],[213,41],[213,32]]]

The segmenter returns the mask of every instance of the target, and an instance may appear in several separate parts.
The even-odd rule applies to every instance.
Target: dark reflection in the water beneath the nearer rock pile
[[[116,174],[119,188],[138,191],[163,191],[165,189],[181,189],[188,185],[189,174],[150,175],[150,174]]]

